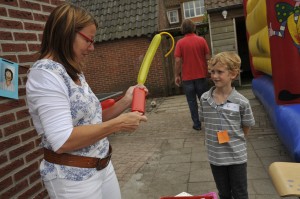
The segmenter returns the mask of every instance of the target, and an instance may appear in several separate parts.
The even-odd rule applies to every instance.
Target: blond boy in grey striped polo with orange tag
[[[234,52],[215,55],[208,63],[214,86],[200,100],[208,159],[220,199],[248,199],[245,136],[255,121],[249,100],[231,86],[240,65]]]

